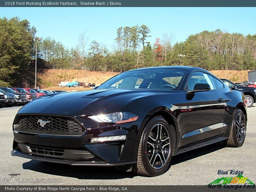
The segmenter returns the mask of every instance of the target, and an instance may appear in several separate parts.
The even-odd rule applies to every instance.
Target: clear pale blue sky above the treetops
[[[37,29],[36,36],[50,36],[71,48],[86,31],[88,43],[96,40],[110,51],[115,47],[116,29],[147,25],[155,39],[173,34],[175,42],[185,41],[191,34],[203,30],[221,30],[244,35],[256,34],[256,8],[242,7],[68,7],[68,8],[0,8],[0,17],[27,19]]]

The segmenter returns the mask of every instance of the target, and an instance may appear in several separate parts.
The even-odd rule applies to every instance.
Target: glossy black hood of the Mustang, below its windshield
[[[143,89],[101,89],[44,95],[28,103],[20,113],[55,114],[65,116],[94,115],[122,110],[133,100],[176,91]]]

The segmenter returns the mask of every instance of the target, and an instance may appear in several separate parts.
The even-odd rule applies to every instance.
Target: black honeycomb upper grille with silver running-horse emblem
[[[18,126],[17,126],[18,125]],[[22,115],[15,130],[38,134],[81,135],[85,128],[74,118],[50,115]]]

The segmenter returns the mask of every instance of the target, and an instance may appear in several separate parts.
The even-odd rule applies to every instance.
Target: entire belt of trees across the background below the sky
[[[95,40],[85,52],[84,46],[68,49],[51,37],[41,38],[35,50],[36,28],[30,27],[27,20],[0,18],[0,26],[0,86],[34,84],[35,57],[39,69],[123,72],[134,68],[171,65],[188,65],[207,70],[256,68],[256,34],[243,36],[220,29],[202,31],[174,45],[172,36],[164,34],[163,39],[156,38],[155,44],[151,46],[147,42],[150,29],[146,25],[126,26],[116,30],[117,46],[113,52]],[[41,79],[37,80],[40,83]]]

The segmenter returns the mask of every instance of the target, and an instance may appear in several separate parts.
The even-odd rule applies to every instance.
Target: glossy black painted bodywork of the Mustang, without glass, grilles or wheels
[[[220,80],[201,68],[185,66],[147,69],[182,69],[185,76],[175,91],[157,89],[94,89],[90,91],[56,93],[40,97],[21,108],[14,120],[23,114],[48,114],[71,116],[86,128],[81,136],[46,136],[15,132],[13,156],[79,165],[124,165],[137,161],[140,136],[147,122],[154,116],[163,116],[174,125],[173,155],[228,138],[235,111],[240,108],[246,115],[244,94],[230,90],[223,84],[221,90],[188,92],[186,84],[195,71],[201,71]],[[143,70],[143,69],[136,69]],[[136,71],[134,70],[134,71]],[[99,124],[89,115],[128,111],[139,116],[137,121],[124,124]],[[223,123],[223,126],[222,126]],[[221,127],[205,127],[221,124]],[[206,130],[189,137],[195,130]],[[91,143],[92,137],[126,135],[125,141]],[[80,158],[56,160],[29,156],[19,145],[30,144],[68,150],[89,151],[93,159]]]

